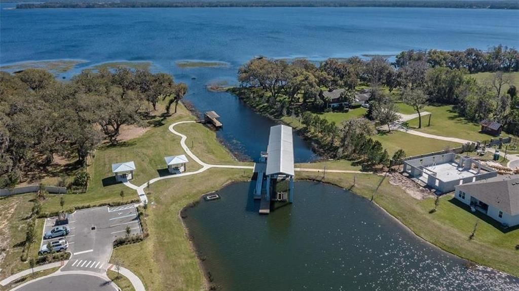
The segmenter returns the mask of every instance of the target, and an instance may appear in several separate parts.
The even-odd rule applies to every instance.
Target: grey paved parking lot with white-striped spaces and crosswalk
[[[56,218],[46,219],[44,233],[52,229],[55,221]],[[78,210],[69,215],[68,226],[71,232],[66,237],[42,241],[42,245],[61,239],[69,241],[67,251],[72,253],[72,256],[62,271],[105,273],[110,267],[108,261],[113,241],[118,237],[124,237],[127,227],[130,228],[131,234],[142,233],[134,205]]]

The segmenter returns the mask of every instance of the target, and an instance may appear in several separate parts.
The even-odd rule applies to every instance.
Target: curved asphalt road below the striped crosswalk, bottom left
[[[111,281],[87,274],[62,274],[33,281],[17,291],[116,291]]]

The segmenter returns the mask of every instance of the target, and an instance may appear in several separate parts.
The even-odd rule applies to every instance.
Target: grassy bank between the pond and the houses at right
[[[328,173],[324,182],[350,188],[353,176],[354,174]],[[298,178],[316,177],[315,173],[298,173]],[[377,175],[357,174],[356,186],[351,190],[369,199],[380,179],[381,176]],[[519,275],[518,251],[514,249],[519,242],[519,230],[501,232],[489,223],[490,220],[479,219],[465,207],[454,204],[452,195],[443,196],[438,211],[430,214],[429,211],[434,208],[433,198],[414,199],[386,179],[374,201],[421,238],[445,251],[478,264]],[[479,226],[475,238],[469,240],[476,220],[479,220]]]

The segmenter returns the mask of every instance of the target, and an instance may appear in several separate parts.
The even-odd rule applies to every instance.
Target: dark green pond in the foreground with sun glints
[[[268,216],[229,185],[185,222],[223,290],[519,290],[519,279],[418,239],[368,200],[331,185],[297,182],[293,205]]]

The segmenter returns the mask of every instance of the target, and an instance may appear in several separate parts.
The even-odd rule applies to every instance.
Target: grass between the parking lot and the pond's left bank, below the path
[[[247,180],[251,175],[250,170],[211,169],[153,184],[146,217],[149,237],[138,244],[115,248],[113,261],[135,272],[148,290],[204,289],[203,274],[179,212],[203,193],[220,189],[229,181]]]

